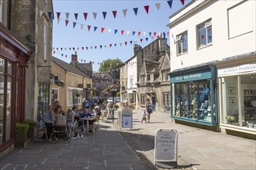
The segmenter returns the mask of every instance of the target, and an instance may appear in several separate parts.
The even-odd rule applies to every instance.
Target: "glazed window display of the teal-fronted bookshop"
[[[209,84],[209,80],[175,83],[175,114],[172,115],[212,122],[216,107],[215,97],[211,101]],[[215,90],[212,91],[214,93]],[[211,102],[213,102],[213,108]]]

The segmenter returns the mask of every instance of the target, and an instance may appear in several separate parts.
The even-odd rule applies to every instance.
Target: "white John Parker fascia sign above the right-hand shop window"
[[[234,66],[226,69],[220,69],[218,70],[218,75],[228,75],[228,74],[234,74],[234,73],[244,73],[244,72],[251,72],[256,70],[256,63],[253,64],[244,64],[241,66]]]

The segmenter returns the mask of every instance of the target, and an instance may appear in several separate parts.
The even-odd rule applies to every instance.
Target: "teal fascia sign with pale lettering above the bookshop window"
[[[171,83],[182,82],[182,81],[191,81],[191,80],[202,80],[211,78],[211,72],[204,73],[192,73],[181,76],[171,77]]]

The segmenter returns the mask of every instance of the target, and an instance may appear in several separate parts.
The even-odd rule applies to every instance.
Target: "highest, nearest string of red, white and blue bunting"
[[[180,0],[180,1],[182,2],[182,5],[184,5],[185,0]],[[167,1],[167,2],[168,2],[169,7],[171,8],[173,0],[169,0],[169,1]],[[157,2],[157,3],[155,4],[155,6],[156,6],[157,10],[159,11],[159,10],[160,10],[160,6],[161,6],[161,3],[160,3],[160,2]],[[147,14],[149,13],[149,8],[150,8],[150,5],[144,5],[144,10],[145,10],[145,12],[147,12]],[[137,14],[138,14],[138,10],[139,10],[139,8],[133,8],[133,12],[134,12],[134,14],[135,14],[136,16],[137,16]],[[125,9],[123,9],[122,11],[123,11],[124,17],[126,18],[126,14],[127,14],[128,9],[125,8]],[[40,11],[40,17],[43,15],[43,13],[44,13],[43,11]],[[74,12],[56,12],[57,19],[60,19],[60,16],[61,16],[62,13],[64,13],[64,14],[66,15],[66,20],[68,20],[68,17],[69,17],[69,15],[70,15],[71,13],[74,14],[75,20],[78,19],[78,15],[79,15],[79,13],[77,13],[77,12],[75,12],[75,13],[74,13]],[[103,17],[103,19],[106,19],[107,13],[108,13],[108,12],[106,12],[106,11],[102,12],[102,17]],[[116,10],[112,10],[112,15],[113,15],[114,19],[116,19],[117,13],[119,13],[119,12],[116,11]],[[52,19],[53,12],[47,12],[47,14],[48,14],[49,20],[51,20],[51,19]],[[84,15],[85,20],[88,19],[88,12],[83,12],[83,15]],[[92,15],[93,15],[93,18],[96,20],[96,19],[97,19],[98,12],[92,12]]]

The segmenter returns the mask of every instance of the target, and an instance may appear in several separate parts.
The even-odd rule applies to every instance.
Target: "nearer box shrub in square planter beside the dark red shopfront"
[[[15,146],[25,148],[27,132],[29,131],[29,124],[17,123],[15,131],[16,131]]]

